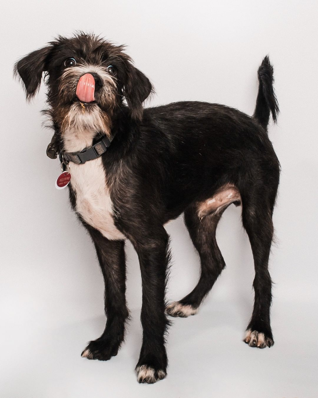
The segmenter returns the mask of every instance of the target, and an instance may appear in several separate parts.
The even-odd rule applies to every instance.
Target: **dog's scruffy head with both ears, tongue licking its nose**
[[[16,63],[15,72],[28,100],[39,90],[45,72],[48,113],[62,133],[69,128],[107,133],[124,97],[131,117],[138,120],[152,91],[148,78],[123,53],[123,46],[84,33],[71,39],[58,37],[33,51]]]

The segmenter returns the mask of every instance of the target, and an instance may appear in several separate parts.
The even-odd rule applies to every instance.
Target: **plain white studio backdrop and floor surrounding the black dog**
[[[1,397],[316,397],[317,386],[316,1],[6,2],[1,29]],[[197,316],[168,337],[168,377],[139,385],[141,280],[127,244],[126,343],[108,362],[80,357],[103,330],[103,283],[93,245],[54,181],[41,127],[45,88],[32,104],[13,63],[58,34],[94,31],[116,43],[153,82],[151,105],[219,102],[252,114],[258,65],[274,64],[281,113],[269,135],[281,162],[270,258],[275,345],[241,340],[252,312],[252,254],[240,208],[218,227],[227,268]],[[169,299],[189,293],[199,260],[182,217],[172,236]]]

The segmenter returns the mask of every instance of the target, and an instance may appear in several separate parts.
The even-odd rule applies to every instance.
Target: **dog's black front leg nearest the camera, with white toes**
[[[164,334],[168,320],[165,315],[165,288],[169,260],[168,234],[163,226],[155,234],[133,242],[139,257],[143,283],[141,324],[143,343],[136,366],[140,383],[154,383],[166,376],[167,354]]]

